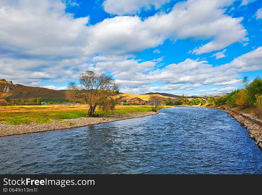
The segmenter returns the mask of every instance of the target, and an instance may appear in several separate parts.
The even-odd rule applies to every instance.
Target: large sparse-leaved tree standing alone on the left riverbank
[[[68,83],[67,97],[82,98],[88,105],[88,115],[94,117],[96,107],[102,111],[113,110],[116,105],[116,95],[119,85],[109,74],[96,74],[88,70],[79,75],[79,84]]]

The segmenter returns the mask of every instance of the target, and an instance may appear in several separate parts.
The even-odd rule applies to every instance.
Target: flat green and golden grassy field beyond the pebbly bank
[[[159,109],[169,106],[159,106]],[[126,114],[133,112],[151,111],[150,106],[116,106],[114,111],[100,112],[100,116],[109,114]],[[0,121],[7,124],[21,125],[34,121],[36,123],[50,123],[51,119],[72,119],[88,117],[88,106],[64,106],[64,105],[39,105],[39,106],[0,106]]]

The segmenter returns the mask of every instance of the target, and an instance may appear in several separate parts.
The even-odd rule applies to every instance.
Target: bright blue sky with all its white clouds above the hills
[[[261,37],[261,0],[4,0],[0,77],[66,89],[93,70],[121,92],[230,92],[262,76]]]

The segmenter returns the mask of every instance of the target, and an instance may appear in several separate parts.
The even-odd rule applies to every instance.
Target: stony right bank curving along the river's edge
[[[262,150],[262,121],[255,118],[250,114],[244,114],[240,112],[236,112],[231,109],[223,110],[222,108],[216,107],[205,107],[205,106],[181,106],[181,107],[197,107],[197,108],[208,108],[220,110],[227,113],[228,116],[234,118],[237,122],[239,122],[244,128],[247,129],[250,138],[255,140],[255,144]],[[259,142],[258,142],[259,141]]]

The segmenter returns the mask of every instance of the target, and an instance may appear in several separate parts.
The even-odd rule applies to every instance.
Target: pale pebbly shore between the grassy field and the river
[[[145,117],[153,114],[158,114],[158,112],[135,112],[127,114],[114,114],[99,118],[82,117],[76,119],[53,120],[52,123],[45,124],[36,124],[34,122],[30,122],[29,124],[9,125],[5,124],[4,122],[0,122],[0,137],[25,133],[36,133],[49,130],[76,128],[104,122],[113,122],[117,120]]]

